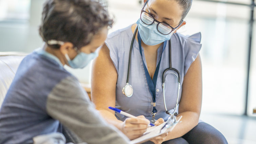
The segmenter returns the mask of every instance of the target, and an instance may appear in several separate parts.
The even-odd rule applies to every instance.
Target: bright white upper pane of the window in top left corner
[[[28,20],[30,0],[0,0],[0,21]]]

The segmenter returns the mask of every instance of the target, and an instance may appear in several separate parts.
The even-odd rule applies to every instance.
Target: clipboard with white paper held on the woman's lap
[[[141,137],[132,140],[130,144],[141,144],[143,142],[149,141],[154,137],[162,135],[163,133],[172,131],[174,127],[181,122],[181,118],[182,116],[179,116],[177,118],[175,116],[170,116],[166,122],[158,126],[148,128],[147,131],[144,132]]]

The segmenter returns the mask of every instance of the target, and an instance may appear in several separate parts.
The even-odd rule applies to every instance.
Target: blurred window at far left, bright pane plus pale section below
[[[27,52],[25,47],[28,41],[30,2],[0,0],[0,52]]]

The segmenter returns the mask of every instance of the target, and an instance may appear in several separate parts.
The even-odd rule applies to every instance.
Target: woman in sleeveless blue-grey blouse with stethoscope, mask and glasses
[[[183,19],[191,4],[192,0],[144,0],[136,24],[110,34],[94,61],[92,101],[102,116],[131,140],[145,132],[148,120],[157,120],[156,125],[166,121],[166,113],[173,114],[177,102],[176,112],[182,116],[182,123],[146,143],[227,143],[217,129],[199,121],[201,35],[185,37],[176,33],[186,24]],[[172,70],[164,74],[166,68]],[[138,118],[115,114],[109,106]]]

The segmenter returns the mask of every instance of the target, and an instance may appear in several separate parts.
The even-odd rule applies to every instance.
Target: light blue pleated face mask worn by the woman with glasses
[[[169,35],[163,35],[157,30],[157,22],[154,22],[151,25],[144,24],[140,19],[136,22],[138,25],[138,30],[140,33],[141,40],[146,45],[157,45],[166,40],[170,40],[174,30]]]

